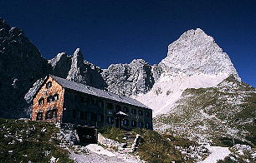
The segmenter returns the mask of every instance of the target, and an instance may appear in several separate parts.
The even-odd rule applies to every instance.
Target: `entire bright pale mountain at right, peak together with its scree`
[[[158,67],[161,76],[151,91],[136,97],[153,109],[154,116],[171,111],[187,88],[217,86],[231,74],[241,81],[228,54],[199,28],[184,32],[170,44]]]

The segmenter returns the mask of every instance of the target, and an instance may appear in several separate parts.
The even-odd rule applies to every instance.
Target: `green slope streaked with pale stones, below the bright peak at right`
[[[156,128],[215,145],[255,143],[255,89],[228,77],[216,87],[187,89],[172,112],[154,119]],[[255,144],[254,144],[255,145]]]

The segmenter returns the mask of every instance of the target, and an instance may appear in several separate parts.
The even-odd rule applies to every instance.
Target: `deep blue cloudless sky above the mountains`
[[[158,63],[170,43],[200,27],[228,53],[242,80],[256,86],[254,0],[0,0],[0,17],[23,29],[45,58],[80,47],[85,60],[102,68],[134,58]]]

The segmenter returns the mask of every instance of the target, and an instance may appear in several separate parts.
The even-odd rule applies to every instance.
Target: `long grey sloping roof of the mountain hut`
[[[64,88],[68,88],[70,90],[79,91],[82,93],[86,93],[93,96],[100,96],[106,99],[110,99],[113,101],[120,101],[126,104],[130,104],[132,106],[140,106],[147,109],[150,109],[148,106],[142,104],[140,101],[136,101],[135,99],[127,96],[120,96],[115,93],[111,93],[109,91],[100,90],[98,88],[95,88],[93,86],[86,86],[84,84],[81,84],[79,82],[75,81],[69,81],[68,79],[64,79],[61,77],[55,77],[53,75],[50,75],[50,77],[53,77],[55,81],[57,81],[61,86]]]

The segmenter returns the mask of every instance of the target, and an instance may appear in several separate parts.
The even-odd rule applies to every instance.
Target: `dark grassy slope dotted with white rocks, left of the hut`
[[[49,123],[0,119],[0,162],[49,162],[52,156],[73,162],[68,151],[57,147],[58,132]]]

